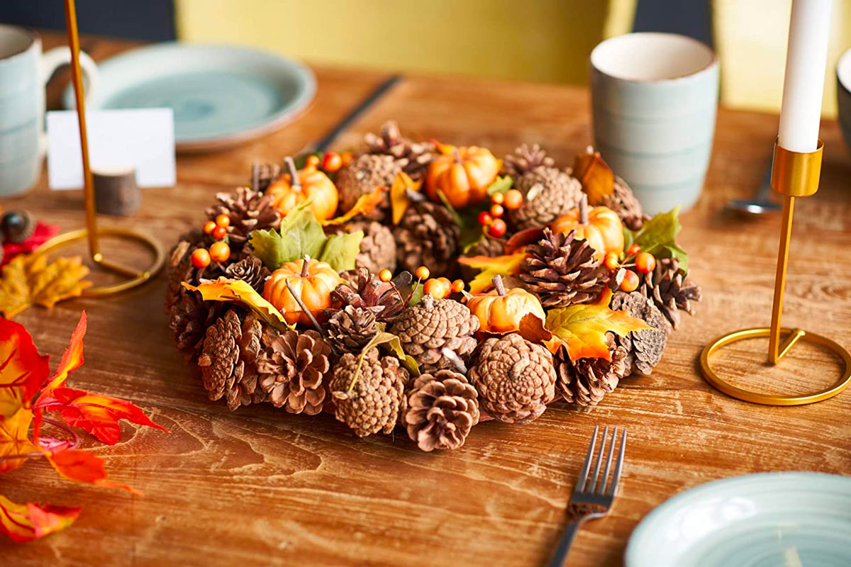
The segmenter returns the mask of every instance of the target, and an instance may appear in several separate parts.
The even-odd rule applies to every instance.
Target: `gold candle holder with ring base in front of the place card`
[[[45,254],[56,248],[65,246],[73,241],[89,241],[89,257],[96,266],[123,275],[128,278],[111,286],[89,287],[83,291],[84,296],[105,296],[123,292],[131,287],[140,286],[157,275],[165,264],[165,252],[157,241],[139,231],[132,229],[98,229],[97,209],[94,202],[94,184],[92,170],[89,167],[89,141],[86,134],[86,108],[83,94],[83,73],[80,71],[80,37],[77,31],[77,9],[74,0],[65,1],[65,20],[68,28],[68,46],[71,48],[71,80],[74,85],[74,98],[77,100],[77,120],[80,125],[80,148],[83,153],[83,200],[86,206],[86,228],[73,230],[62,235],[54,236],[38,247],[34,255]],[[100,252],[100,237],[112,236],[120,240],[141,242],[151,249],[154,261],[148,269],[135,269],[110,262]]]

